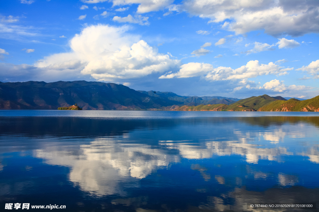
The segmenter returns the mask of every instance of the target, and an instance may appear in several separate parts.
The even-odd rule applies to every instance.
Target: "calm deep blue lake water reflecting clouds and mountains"
[[[0,111],[0,211],[318,211],[318,176],[319,113]]]

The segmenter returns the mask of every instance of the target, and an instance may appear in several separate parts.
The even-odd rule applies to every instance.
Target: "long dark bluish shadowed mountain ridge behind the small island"
[[[0,109],[57,109],[77,103],[83,110],[147,110],[172,105],[234,102],[206,99],[179,96],[173,92],[135,91],[124,85],[103,82],[0,82]]]

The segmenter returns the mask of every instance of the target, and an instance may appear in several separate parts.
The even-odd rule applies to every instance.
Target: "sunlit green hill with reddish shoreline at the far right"
[[[298,100],[289,99],[287,101],[277,100],[263,106],[258,111],[312,111],[319,112],[319,96],[312,99]]]

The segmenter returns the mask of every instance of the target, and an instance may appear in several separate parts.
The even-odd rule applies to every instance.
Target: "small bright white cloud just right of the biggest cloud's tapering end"
[[[166,73],[159,77],[159,79],[170,79],[170,78],[189,78],[202,76],[207,72],[213,70],[213,66],[207,63],[187,63],[180,67],[180,70],[176,73]]]

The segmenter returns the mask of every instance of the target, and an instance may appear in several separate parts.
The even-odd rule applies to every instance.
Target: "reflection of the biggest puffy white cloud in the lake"
[[[112,138],[96,139],[89,145],[80,145],[78,154],[60,150],[56,146],[33,151],[51,165],[69,166],[70,181],[82,190],[94,195],[125,195],[121,182],[139,187],[138,179],[145,178],[154,170],[168,167],[180,161],[178,155],[151,145],[121,143]],[[70,147],[73,148],[73,147]]]

